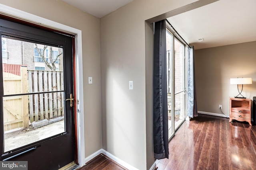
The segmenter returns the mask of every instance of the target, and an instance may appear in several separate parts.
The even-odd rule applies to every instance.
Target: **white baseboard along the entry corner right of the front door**
[[[95,158],[96,156],[98,156],[99,154],[104,154],[106,156],[108,156],[110,159],[114,160],[116,163],[118,163],[119,165],[123,166],[124,168],[127,168],[128,170],[138,170],[137,168],[134,168],[133,166],[131,166],[130,164],[124,162],[123,160],[119,159],[118,157],[112,155],[111,153],[107,152],[106,150],[104,149],[100,149],[96,152],[94,152],[93,154],[91,154],[90,156],[88,156],[87,158],[85,158],[85,162],[88,162],[90,160],[92,160],[92,158]],[[156,163],[154,163],[156,164]],[[152,167],[154,167],[154,164]],[[152,168],[151,167],[151,168]],[[150,168],[150,170],[151,170]],[[152,169],[154,170],[154,169]]]

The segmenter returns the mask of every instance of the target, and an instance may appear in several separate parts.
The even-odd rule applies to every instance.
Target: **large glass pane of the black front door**
[[[2,39],[6,40],[6,49],[10,53],[2,69],[4,152],[7,152],[65,132],[63,50]],[[44,50],[39,51],[38,47]],[[16,50],[19,48],[24,51]],[[38,49],[40,57],[44,58],[46,49],[52,48],[61,53],[58,56],[61,71],[56,71],[56,62],[52,59],[52,62],[43,59],[40,62],[46,70],[34,70],[37,62],[33,59],[33,49]]]

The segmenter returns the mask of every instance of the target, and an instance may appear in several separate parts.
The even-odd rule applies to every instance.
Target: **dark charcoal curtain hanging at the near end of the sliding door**
[[[168,158],[168,113],[165,20],[154,23],[153,71],[154,158]]]

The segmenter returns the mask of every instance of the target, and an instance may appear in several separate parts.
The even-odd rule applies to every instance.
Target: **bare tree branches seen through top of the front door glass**
[[[56,66],[55,66],[55,62],[58,60],[59,56],[62,55],[62,53],[60,53],[59,55],[56,56],[55,59],[52,58],[52,46],[50,46],[50,50],[49,50],[49,59],[50,59],[50,63],[47,61],[46,57],[44,57],[44,51],[48,48],[47,45],[44,45],[44,49],[43,51],[40,51],[37,47],[36,44],[36,51],[38,52],[39,56],[42,57],[44,63],[51,69],[51,70],[56,70]]]

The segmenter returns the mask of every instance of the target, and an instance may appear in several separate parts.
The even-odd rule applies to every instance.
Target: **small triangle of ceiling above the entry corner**
[[[133,0],[62,0],[97,18],[102,18]]]

